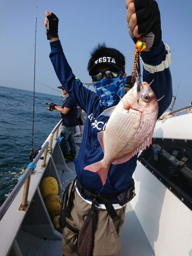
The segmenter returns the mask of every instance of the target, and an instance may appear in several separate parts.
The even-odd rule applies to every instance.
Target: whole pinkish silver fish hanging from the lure
[[[101,114],[111,114],[105,131],[98,133],[104,157],[84,169],[98,173],[104,185],[111,164],[125,163],[151,144],[157,113],[157,98],[150,84],[143,82],[137,92],[135,83],[116,106]]]

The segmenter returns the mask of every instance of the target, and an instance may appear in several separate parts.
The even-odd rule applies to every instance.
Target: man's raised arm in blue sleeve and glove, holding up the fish
[[[140,38],[146,49],[141,53],[143,81],[150,83],[159,101],[160,116],[172,101],[172,78],[169,70],[172,57],[169,46],[163,44],[160,11],[154,0],[126,0],[128,32],[134,43]]]

